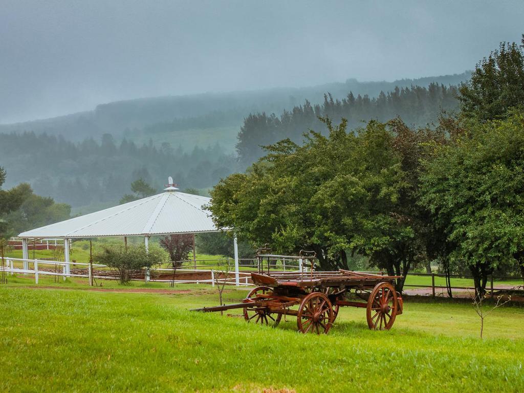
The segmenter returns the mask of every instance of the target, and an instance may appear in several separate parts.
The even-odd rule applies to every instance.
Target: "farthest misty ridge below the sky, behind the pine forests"
[[[376,97],[411,85],[430,83],[456,85],[467,80],[471,72],[420,79],[402,79],[394,82],[359,82],[348,79],[343,83],[328,83],[305,88],[279,88],[228,93],[165,96],[118,101],[96,106],[93,111],[30,122],[0,125],[0,133],[34,132],[62,135],[72,141],[86,137],[100,138],[109,133],[116,138],[126,136],[139,143],[154,139],[189,150],[195,145],[213,146],[220,143],[233,151],[236,135],[243,119],[250,113],[281,113],[309,100],[322,103],[325,93],[343,99],[348,92]]]

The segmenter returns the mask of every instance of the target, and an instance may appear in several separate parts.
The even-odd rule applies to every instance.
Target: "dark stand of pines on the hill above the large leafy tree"
[[[318,117],[328,116],[334,122],[342,117],[348,120],[348,128],[362,126],[363,122],[377,119],[380,122],[400,116],[408,125],[425,126],[436,122],[442,110],[453,111],[457,108],[455,86],[446,87],[431,83],[427,88],[395,88],[394,91],[380,92],[378,97],[349,93],[343,100],[334,100],[331,94],[324,96],[324,102],[311,105],[305,101],[291,111],[284,111],[280,117],[266,113],[250,114],[244,119],[244,125],[238,134],[236,149],[239,160],[244,165],[264,155],[260,146],[290,138],[296,143],[302,141],[302,135],[309,129],[320,131],[325,127]]]

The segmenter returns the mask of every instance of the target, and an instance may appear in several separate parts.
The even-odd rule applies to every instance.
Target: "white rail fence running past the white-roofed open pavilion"
[[[38,279],[40,276],[60,276],[63,277],[63,280],[67,277],[81,277],[81,278],[89,278],[89,283],[92,285],[93,279],[106,279],[106,280],[116,280],[117,277],[111,277],[111,276],[103,276],[100,274],[96,274],[96,272],[93,271],[95,268],[108,268],[106,265],[100,265],[100,264],[89,264],[89,263],[79,263],[79,262],[63,262],[63,261],[55,261],[55,260],[43,260],[43,259],[24,259],[24,258],[4,258],[5,263],[0,266],[0,272],[3,271],[5,274],[8,275],[15,275],[15,274],[23,274],[23,275],[34,275],[35,276],[35,283],[38,284]],[[18,267],[15,267],[14,263],[18,261],[21,262],[23,267],[20,269]],[[49,269],[43,268],[43,266],[52,266],[55,268],[55,271],[51,271]],[[32,269],[30,268],[32,266]],[[82,274],[78,271],[71,271],[71,266],[73,267],[83,267],[83,269],[88,269],[88,274]],[[56,268],[61,268],[62,271],[56,271]],[[78,269],[77,269],[78,270]],[[111,270],[108,270],[111,271]],[[212,286],[215,285],[216,282],[224,282],[228,285],[240,285],[240,286],[250,286],[253,285],[252,283],[249,283],[248,280],[251,276],[249,272],[242,272],[242,271],[223,271],[223,270],[209,270],[209,269],[176,269],[176,273],[191,273],[191,272],[205,272],[206,274],[211,274],[211,279],[203,279],[203,280],[165,280],[165,279],[151,279],[150,278],[150,271],[166,271],[173,273],[172,268],[150,268],[150,269],[144,269],[144,277],[145,281],[152,281],[152,282],[173,282],[173,283],[211,283]],[[225,278],[218,278],[217,275],[226,275]],[[232,275],[233,277],[229,277]],[[243,276],[243,277],[241,277]],[[141,281],[139,279],[133,279],[135,281]]]

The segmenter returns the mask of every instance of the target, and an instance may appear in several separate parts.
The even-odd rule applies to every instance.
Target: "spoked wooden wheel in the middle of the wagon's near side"
[[[308,294],[300,303],[297,315],[298,330],[302,333],[328,333],[335,320],[333,305],[321,292]]]

